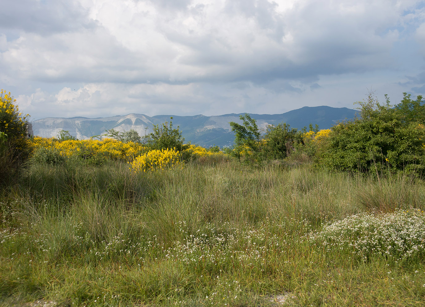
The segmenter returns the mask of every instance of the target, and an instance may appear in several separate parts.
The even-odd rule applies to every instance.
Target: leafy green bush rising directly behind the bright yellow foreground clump
[[[170,117],[173,119],[173,117]],[[184,137],[181,136],[180,127],[173,128],[173,122],[164,122],[161,125],[153,125],[153,132],[149,135],[149,143],[153,149],[173,149],[178,151],[189,148],[189,144],[183,144]]]

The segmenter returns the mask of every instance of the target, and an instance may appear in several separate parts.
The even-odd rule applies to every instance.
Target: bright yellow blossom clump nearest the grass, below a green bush
[[[164,168],[172,168],[182,166],[181,154],[174,149],[151,150],[144,153],[131,163],[131,168],[135,173],[164,170]],[[130,169],[131,169],[130,168]]]

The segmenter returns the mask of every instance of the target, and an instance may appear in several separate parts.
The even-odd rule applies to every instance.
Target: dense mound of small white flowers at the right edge
[[[330,223],[310,242],[326,251],[343,250],[361,256],[382,255],[396,261],[425,256],[425,214],[422,210],[396,210],[394,213],[359,213]]]

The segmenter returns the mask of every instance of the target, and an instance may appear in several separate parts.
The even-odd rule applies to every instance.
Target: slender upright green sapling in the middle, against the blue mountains
[[[235,132],[235,156],[241,160],[241,152],[244,148],[249,148],[251,154],[257,158],[260,151],[260,131],[257,126],[257,121],[249,116],[248,113],[240,115],[243,125],[237,122],[229,122],[232,131]]]

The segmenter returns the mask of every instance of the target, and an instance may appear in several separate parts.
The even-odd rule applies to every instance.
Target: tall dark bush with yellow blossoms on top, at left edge
[[[0,185],[16,178],[31,154],[27,139],[28,115],[19,113],[15,102],[10,93],[0,91]]]

